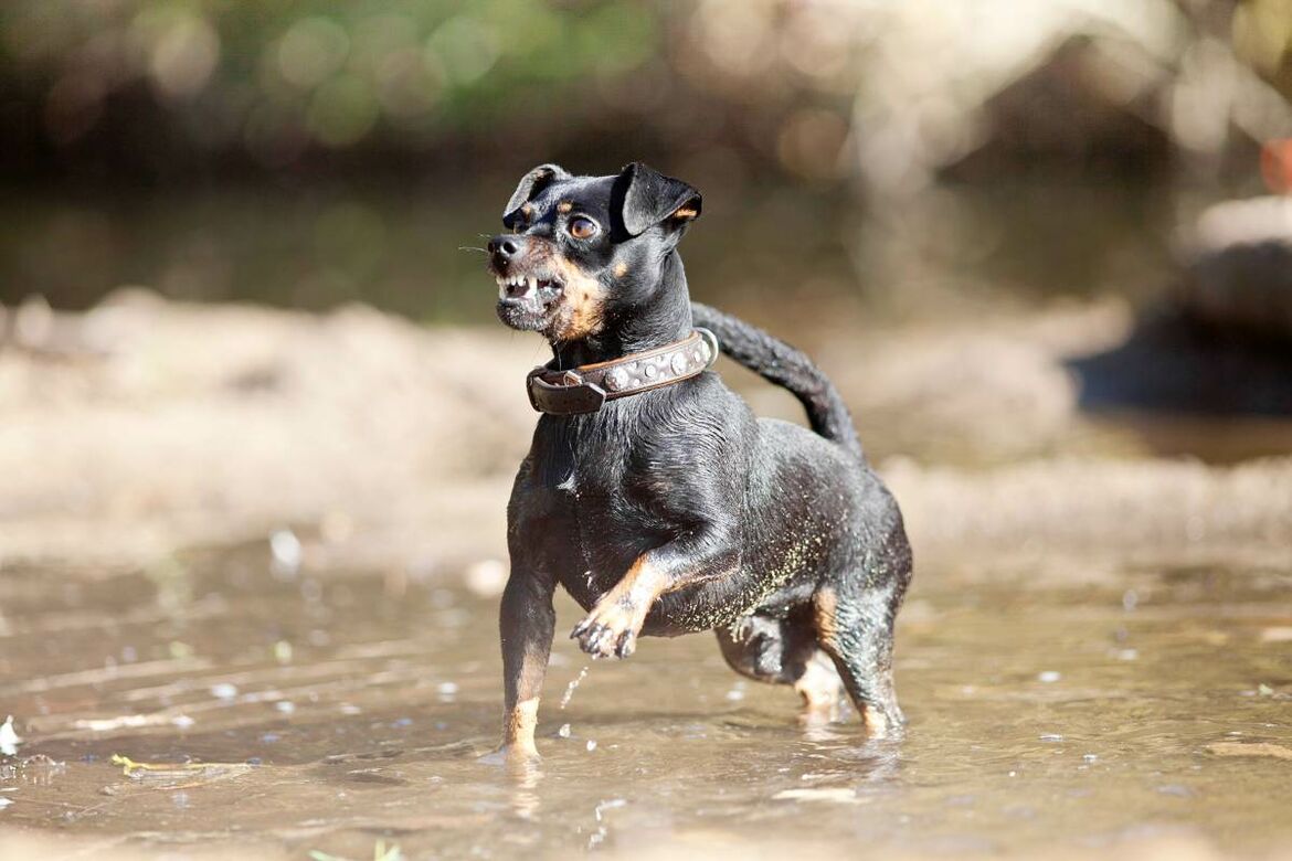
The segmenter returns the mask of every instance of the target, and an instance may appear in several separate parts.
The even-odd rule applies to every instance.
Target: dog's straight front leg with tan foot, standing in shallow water
[[[503,746],[508,758],[536,758],[534,728],[539,719],[543,676],[548,671],[557,616],[552,608],[556,583],[517,568],[503,590],[499,633],[503,640]]]

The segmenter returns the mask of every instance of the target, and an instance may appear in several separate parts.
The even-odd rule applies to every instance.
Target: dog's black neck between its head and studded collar
[[[673,250],[660,267],[659,285],[649,306],[612,315],[596,336],[553,343],[552,352],[561,368],[610,361],[681,341],[691,333],[691,325],[686,271],[681,256]]]

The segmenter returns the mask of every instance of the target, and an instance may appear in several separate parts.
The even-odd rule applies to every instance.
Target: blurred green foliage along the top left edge
[[[212,146],[348,147],[435,136],[596,90],[658,49],[660,9],[633,0],[12,0],[0,75],[45,102],[56,139],[146,83]]]

